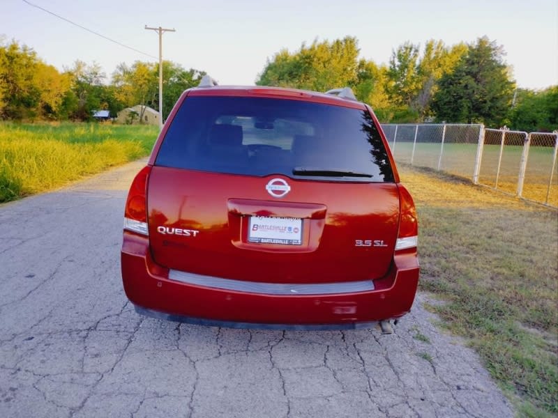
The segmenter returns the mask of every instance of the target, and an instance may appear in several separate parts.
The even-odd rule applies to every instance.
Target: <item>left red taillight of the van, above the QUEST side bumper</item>
[[[147,231],[147,179],[151,167],[144,167],[135,176],[124,210],[124,229],[148,235]]]

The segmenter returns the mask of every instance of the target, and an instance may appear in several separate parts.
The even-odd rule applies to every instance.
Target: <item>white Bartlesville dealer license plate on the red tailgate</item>
[[[302,219],[251,216],[248,227],[249,242],[302,245]]]

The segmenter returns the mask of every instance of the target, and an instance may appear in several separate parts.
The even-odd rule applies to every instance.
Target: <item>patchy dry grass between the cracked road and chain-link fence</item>
[[[418,209],[421,288],[520,416],[558,414],[558,211],[400,164]]]

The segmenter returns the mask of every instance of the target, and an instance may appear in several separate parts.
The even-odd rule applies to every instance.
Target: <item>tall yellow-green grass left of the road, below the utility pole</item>
[[[158,132],[147,125],[0,123],[0,202],[148,155]]]

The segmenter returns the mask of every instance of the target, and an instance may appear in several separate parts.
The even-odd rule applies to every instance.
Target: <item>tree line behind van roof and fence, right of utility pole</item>
[[[257,84],[326,91],[350,86],[384,123],[484,123],[490,127],[558,129],[558,86],[515,88],[504,50],[488,38],[446,46],[442,40],[393,49],[388,65],[359,59],[358,40],[315,40],[282,49]]]

